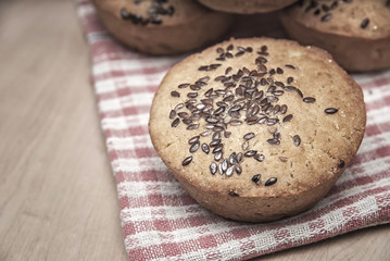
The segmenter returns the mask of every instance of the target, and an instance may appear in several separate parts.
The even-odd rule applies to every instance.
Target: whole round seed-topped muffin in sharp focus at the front
[[[323,198],[355,156],[360,86],[325,51],[231,39],[175,65],[153,100],[153,146],[183,187],[228,219],[264,222]]]

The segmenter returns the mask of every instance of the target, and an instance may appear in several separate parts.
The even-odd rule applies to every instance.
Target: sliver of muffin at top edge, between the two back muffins
[[[238,14],[266,13],[282,9],[297,0],[198,0],[210,9]]]

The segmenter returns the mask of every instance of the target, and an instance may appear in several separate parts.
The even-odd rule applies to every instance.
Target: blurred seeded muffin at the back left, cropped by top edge
[[[106,29],[126,46],[150,54],[174,54],[215,42],[231,15],[194,0],[93,0]]]

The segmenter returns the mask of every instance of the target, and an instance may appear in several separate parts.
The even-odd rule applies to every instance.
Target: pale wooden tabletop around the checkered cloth
[[[126,260],[72,1],[0,1],[0,260]],[[390,260],[390,225],[262,260]]]

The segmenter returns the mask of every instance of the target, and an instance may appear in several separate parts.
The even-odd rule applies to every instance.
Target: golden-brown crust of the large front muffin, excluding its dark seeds
[[[230,45],[234,46],[234,50],[230,51],[234,55],[240,53],[240,50],[247,51],[225,61],[215,60],[221,55],[218,52],[222,50],[226,52]],[[267,50],[262,51],[262,46],[267,46]],[[254,62],[259,57],[267,60],[263,65],[267,67],[268,73],[257,74],[254,77],[248,76],[248,72],[260,69],[259,63],[256,65]],[[201,66],[210,64],[222,65],[211,71],[199,71]],[[292,64],[294,69],[289,64]],[[209,116],[204,115],[204,119],[194,120],[194,124],[200,124],[199,128],[188,130],[184,119],[176,127],[172,127],[172,124],[176,117],[180,117],[178,112],[191,114],[190,110],[194,109],[187,110],[184,107],[176,110],[172,119],[169,119],[169,113],[178,103],[190,100],[187,98],[189,92],[198,92],[198,97],[194,98],[197,102],[193,104],[199,104],[202,99],[207,98],[205,94],[210,88],[213,88],[213,94],[215,90],[225,89],[229,80],[225,82],[224,86],[221,80],[214,79],[225,75],[229,66],[232,70],[227,77],[237,74],[238,70],[243,71],[243,75],[239,83],[236,83],[236,87],[227,87],[235,98],[229,100],[226,96],[230,95],[225,94],[226,103],[228,103],[226,112],[235,105],[231,102],[242,98],[236,94],[236,89],[239,85],[244,85],[242,79],[246,76],[247,79],[253,79],[253,85],[255,80],[259,82],[256,84],[259,91],[263,90],[264,95],[278,98],[278,101],[271,102],[274,108],[277,104],[287,104],[288,110],[285,114],[281,112],[274,114],[273,110],[269,113],[259,112],[271,119],[278,119],[279,122],[274,125],[272,121],[263,124],[260,122],[253,125],[247,124],[249,120],[246,109],[240,112],[238,120],[242,124],[238,126],[237,119],[235,122],[231,121],[235,119],[228,116],[226,112],[221,114],[223,115],[221,121],[225,121],[226,130],[231,132],[231,135],[225,138],[222,133],[224,156],[222,160],[216,161],[210,144],[212,135],[200,137],[200,144],[204,142],[211,147],[209,153],[204,153],[201,148],[193,153],[189,151],[189,139],[207,128],[206,124],[210,123],[206,123],[205,119]],[[243,67],[249,71],[247,72]],[[276,70],[275,74],[269,74],[272,69]],[[191,87],[178,88],[180,84],[194,84],[205,76],[210,79],[200,90],[193,91]],[[272,78],[274,84],[262,85],[260,84],[262,78]],[[286,88],[279,87],[280,83],[275,84],[276,82],[282,83]],[[276,86],[275,90],[275,90],[267,92],[269,86]],[[315,102],[303,102],[299,91],[287,86],[298,88],[303,97],[315,98]],[[280,90],[285,92],[281,94]],[[180,97],[172,97],[172,91],[177,91]],[[216,102],[223,99],[222,92],[219,94],[219,97],[214,97],[214,112],[218,108]],[[248,99],[259,104],[264,97],[261,100]],[[244,102],[248,102],[248,99]],[[203,105],[199,107],[199,109],[202,108]],[[337,108],[338,112],[327,114],[324,112],[327,108]],[[292,120],[284,122],[289,114],[293,116]],[[261,117],[260,114],[255,115]],[[218,119],[218,116],[213,117]],[[164,77],[155,94],[149,130],[159,156],[198,202],[229,219],[260,222],[301,212],[324,197],[356,153],[363,138],[365,121],[361,88],[327,52],[314,47],[302,47],[289,40],[252,38],[222,42],[175,65]],[[272,134],[275,133],[275,128],[276,133],[280,134],[277,138],[279,145],[271,145],[268,141],[268,139],[275,139]],[[243,136],[248,133],[254,133],[254,137],[248,140],[248,148],[243,149],[242,146],[246,142]],[[301,140],[299,146],[293,139],[295,135]],[[257,156],[263,154],[264,160],[260,162],[254,157],[243,157],[240,163],[234,162],[241,166],[241,174],[235,171],[231,176],[228,176],[226,170],[223,175],[218,171],[215,175],[211,174],[211,162],[219,165],[224,159],[229,162],[229,156],[232,152],[237,154],[250,150],[257,151]],[[190,156],[192,156],[192,161],[184,166],[184,159]],[[228,167],[231,165],[228,163]],[[261,174],[260,184],[252,182],[255,174]],[[266,181],[273,177],[276,177],[277,182],[265,186]]]

